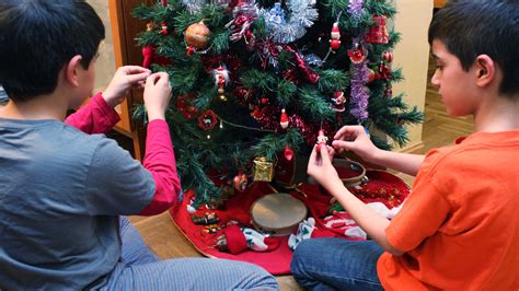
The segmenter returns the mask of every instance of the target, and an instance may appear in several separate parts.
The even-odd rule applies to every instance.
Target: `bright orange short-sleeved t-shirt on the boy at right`
[[[430,151],[385,234],[388,290],[519,290],[519,130]]]

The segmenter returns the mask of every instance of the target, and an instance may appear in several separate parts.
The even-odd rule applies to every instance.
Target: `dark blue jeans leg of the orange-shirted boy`
[[[290,268],[293,278],[310,290],[382,290],[377,276],[382,253],[373,241],[311,238],[297,246]]]

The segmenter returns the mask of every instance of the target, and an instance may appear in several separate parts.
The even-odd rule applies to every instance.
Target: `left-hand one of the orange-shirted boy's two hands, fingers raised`
[[[308,161],[307,174],[326,189],[334,183],[342,183],[337,171],[332,165],[333,154],[334,149],[332,147],[321,147],[321,152],[318,152],[316,147],[313,147]]]

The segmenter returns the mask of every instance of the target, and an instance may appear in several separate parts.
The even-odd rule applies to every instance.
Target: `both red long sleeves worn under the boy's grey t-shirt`
[[[101,92],[65,120],[66,124],[89,135],[106,133],[118,121],[119,116],[105,102]],[[165,120],[155,119],[148,124],[147,129],[146,154],[142,165],[153,177],[155,193],[151,202],[138,213],[139,216],[153,216],[168,210],[175,203],[181,191],[168,124]]]

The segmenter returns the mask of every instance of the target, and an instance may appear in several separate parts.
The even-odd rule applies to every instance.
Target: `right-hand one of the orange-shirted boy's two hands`
[[[361,126],[344,126],[335,133],[332,146],[339,153],[353,151],[367,162],[373,162],[380,151]]]

